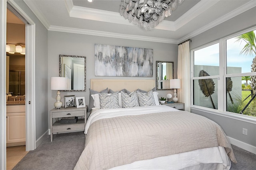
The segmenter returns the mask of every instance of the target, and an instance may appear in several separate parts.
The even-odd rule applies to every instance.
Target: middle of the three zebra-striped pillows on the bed
[[[122,98],[122,108],[139,107],[140,106],[139,102],[138,102],[138,96],[137,96],[136,91],[130,93],[130,95],[121,91],[121,98]]]

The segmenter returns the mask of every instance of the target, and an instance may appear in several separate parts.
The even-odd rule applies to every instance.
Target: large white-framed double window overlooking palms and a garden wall
[[[256,117],[256,30],[192,50],[193,105]]]

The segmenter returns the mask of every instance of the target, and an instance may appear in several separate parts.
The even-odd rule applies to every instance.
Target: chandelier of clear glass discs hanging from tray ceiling
[[[184,0],[121,0],[120,15],[134,25],[152,30]]]

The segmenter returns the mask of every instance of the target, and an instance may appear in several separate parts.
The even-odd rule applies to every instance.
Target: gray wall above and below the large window
[[[230,34],[240,32],[246,28],[256,26],[256,8],[252,8],[214,28],[195,36],[190,43],[190,49],[200,47]],[[191,109],[192,113],[202,115],[218,123],[231,138],[235,138],[252,146],[256,146],[256,124],[240,121],[228,117],[222,117],[203,111]],[[242,134],[242,128],[248,129],[248,135]]]

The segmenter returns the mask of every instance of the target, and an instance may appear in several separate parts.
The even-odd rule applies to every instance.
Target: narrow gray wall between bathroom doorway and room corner
[[[28,6],[20,0],[15,0],[16,4],[26,12],[26,14],[36,24],[36,140],[48,130],[48,58],[47,58],[47,29],[38,20]]]

